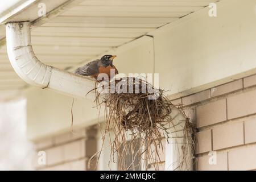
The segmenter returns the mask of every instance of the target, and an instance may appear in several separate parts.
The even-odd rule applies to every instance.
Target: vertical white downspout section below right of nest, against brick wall
[[[187,118],[177,107],[172,107],[172,122],[162,126],[166,137],[166,171],[192,171],[192,140],[185,135]],[[185,140],[184,140],[185,139]],[[184,151],[185,150],[185,151]]]

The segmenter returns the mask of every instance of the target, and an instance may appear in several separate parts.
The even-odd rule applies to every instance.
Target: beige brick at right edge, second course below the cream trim
[[[228,119],[256,113],[256,90],[228,97]]]

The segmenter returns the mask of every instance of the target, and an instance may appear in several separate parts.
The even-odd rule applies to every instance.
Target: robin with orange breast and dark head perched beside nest
[[[113,65],[113,59],[117,56],[104,55],[101,59],[97,59],[85,64],[82,67],[76,69],[75,73],[82,76],[92,76],[97,80],[100,73],[106,73],[111,79],[114,75],[118,74],[117,68]],[[114,69],[114,75],[110,75],[110,69]]]

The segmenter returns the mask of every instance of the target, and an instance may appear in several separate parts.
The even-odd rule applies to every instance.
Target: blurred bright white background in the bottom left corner
[[[0,170],[31,170],[33,150],[27,140],[25,98],[0,102]]]

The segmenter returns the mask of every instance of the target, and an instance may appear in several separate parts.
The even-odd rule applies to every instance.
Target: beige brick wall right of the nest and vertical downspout
[[[256,169],[256,75],[172,103],[182,103],[196,125],[195,170]],[[164,152],[161,155],[159,164],[163,169]],[[210,164],[214,159],[216,163]]]

